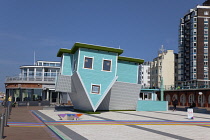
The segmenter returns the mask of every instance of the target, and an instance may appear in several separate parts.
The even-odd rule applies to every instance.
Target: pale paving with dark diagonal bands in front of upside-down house
[[[34,113],[63,139],[210,139],[209,114],[194,113],[192,120],[183,111],[117,111],[84,114],[81,120],[63,121],[58,114],[75,112],[40,110]]]

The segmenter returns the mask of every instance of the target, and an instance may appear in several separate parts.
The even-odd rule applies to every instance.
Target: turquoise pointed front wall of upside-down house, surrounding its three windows
[[[116,77],[116,53],[80,48],[78,72],[94,106]],[[93,69],[84,69],[84,57],[93,58]],[[102,71],[103,59],[112,61],[111,71]],[[91,93],[92,84],[100,85],[100,94]]]

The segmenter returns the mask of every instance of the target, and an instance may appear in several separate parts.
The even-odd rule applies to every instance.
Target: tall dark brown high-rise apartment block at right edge
[[[178,84],[208,86],[210,79],[210,0],[180,20]]]

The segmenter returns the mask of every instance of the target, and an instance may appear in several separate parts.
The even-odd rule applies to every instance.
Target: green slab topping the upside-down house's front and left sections
[[[75,43],[74,46],[72,47],[72,49],[63,49],[63,48],[61,48],[58,51],[58,53],[57,53],[57,57],[61,57],[63,53],[74,54],[79,48],[86,48],[86,49],[114,52],[114,53],[118,53],[118,55],[123,53],[122,49],[103,47],[103,46],[91,45],[91,44]]]

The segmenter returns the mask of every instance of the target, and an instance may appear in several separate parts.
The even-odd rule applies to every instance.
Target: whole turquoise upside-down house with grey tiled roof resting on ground
[[[136,110],[144,60],[120,56],[122,49],[75,43],[60,49],[61,74],[56,91],[68,95],[74,109]]]

